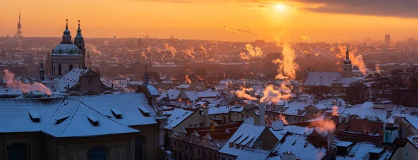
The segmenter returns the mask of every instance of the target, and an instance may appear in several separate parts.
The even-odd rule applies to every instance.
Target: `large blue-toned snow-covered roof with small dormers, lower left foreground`
[[[136,129],[127,126],[157,123],[144,93],[0,99],[0,106],[0,133],[42,131],[56,137],[100,136],[135,133]],[[139,106],[148,109],[149,115],[141,113]]]

